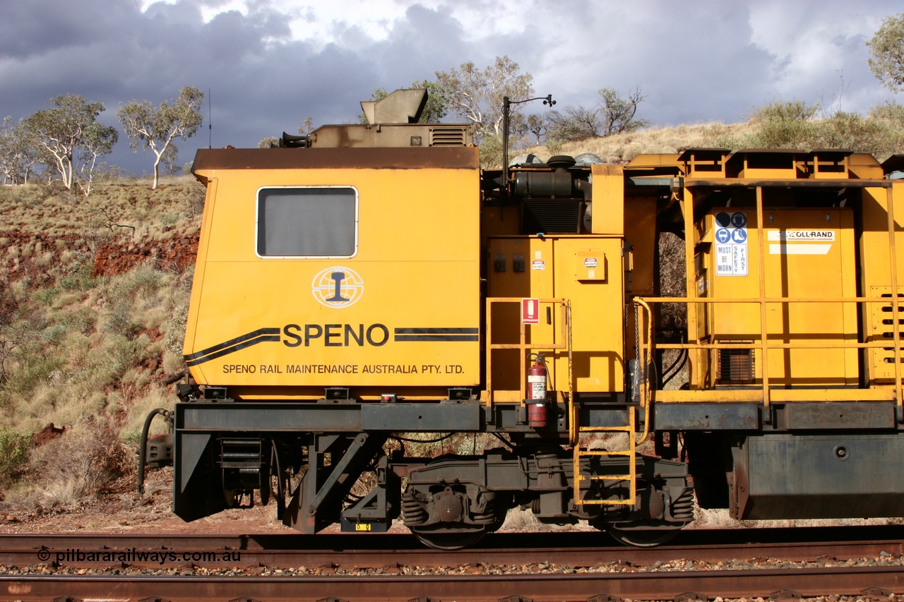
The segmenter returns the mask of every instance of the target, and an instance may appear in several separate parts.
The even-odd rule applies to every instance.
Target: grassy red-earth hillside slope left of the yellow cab
[[[0,189],[7,503],[46,508],[134,482],[142,422],[172,406],[162,383],[182,368],[203,199],[191,177],[101,183],[88,198]]]

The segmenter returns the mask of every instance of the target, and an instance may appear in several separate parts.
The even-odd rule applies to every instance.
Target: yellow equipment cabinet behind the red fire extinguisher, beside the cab
[[[571,355],[574,390],[617,392],[624,389],[623,311],[624,272],[621,239],[591,236],[512,237],[489,244],[489,296],[564,298],[571,305]],[[515,262],[524,261],[523,271]],[[504,271],[502,270],[504,268]],[[521,327],[518,307],[494,306],[489,319],[492,343],[517,343]],[[534,353],[542,343],[561,340],[559,310],[541,304],[540,324],[527,325],[527,342]],[[495,350],[492,358],[494,400],[520,401],[520,363],[517,350]],[[554,390],[569,390],[568,353],[547,353]]]

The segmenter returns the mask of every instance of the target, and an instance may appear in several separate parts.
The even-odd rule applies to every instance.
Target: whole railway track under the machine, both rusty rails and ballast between
[[[800,531],[813,537],[800,541]],[[889,599],[891,592],[904,592],[901,535],[888,527],[690,531],[674,545],[637,550],[600,546],[596,533],[556,534],[542,541],[536,533],[501,534],[488,538],[482,549],[457,552],[416,548],[404,536],[5,535],[0,536],[6,573],[0,575],[0,599]],[[566,539],[570,546],[561,547]],[[298,544],[316,548],[288,549]],[[66,550],[70,556],[56,560]],[[231,562],[104,563],[96,556],[78,560],[75,550],[240,556]],[[52,558],[40,561],[42,551],[42,557]]]

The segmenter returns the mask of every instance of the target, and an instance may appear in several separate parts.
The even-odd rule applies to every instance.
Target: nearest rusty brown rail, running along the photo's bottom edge
[[[86,598],[138,600],[612,600],[888,595],[904,591],[890,567],[669,571],[632,574],[417,577],[0,577],[0,597],[23,602]],[[691,595],[693,593],[693,595]],[[867,593],[867,595],[869,595]]]

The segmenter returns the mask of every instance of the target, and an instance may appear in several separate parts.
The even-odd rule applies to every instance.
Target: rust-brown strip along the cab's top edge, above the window
[[[202,148],[192,169],[477,169],[479,165],[476,147]]]

